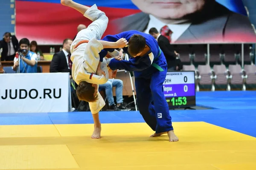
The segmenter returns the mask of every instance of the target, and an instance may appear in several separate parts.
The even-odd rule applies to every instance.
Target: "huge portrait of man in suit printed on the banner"
[[[131,0],[142,12],[119,18],[117,32],[148,33],[156,27],[170,42],[253,42],[256,34],[247,16],[230,11],[215,0]]]

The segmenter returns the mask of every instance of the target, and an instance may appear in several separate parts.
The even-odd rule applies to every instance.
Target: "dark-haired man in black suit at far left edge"
[[[3,34],[3,40],[0,40],[0,49],[3,49],[1,53],[2,61],[13,61],[15,52],[19,48],[19,42],[15,35],[9,32]]]

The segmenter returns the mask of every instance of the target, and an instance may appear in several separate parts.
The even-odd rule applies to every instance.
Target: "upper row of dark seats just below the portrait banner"
[[[210,63],[241,63],[241,44],[209,45]],[[180,54],[183,63],[207,63],[207,44],[177,45],[175,50]],[[244,44],[244,62],[252,64],[255,61],[255,49],[251,44]],[[227,66],[227,65],[226,65]]]

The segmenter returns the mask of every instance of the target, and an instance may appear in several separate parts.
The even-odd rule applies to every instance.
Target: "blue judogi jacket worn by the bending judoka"
[[[116,59],[112,59],[109,63],[109,67],[111,70],[126,70],[126,71],[134,71],[135,77],[150,77],[151,74],[155,73],[156,71],[163,71],[164,69],[167,69],[167,62],[166,58],[159,48],[159,45],[157,43],[157,40],[154,39],[153,36],[150,34],[145,34],[140,31],[125,31],[120,34],[116,35],[107,35],[102,40],[109,41],[109,42],[116,42],[120,38],[125,38],[127,41],[130,40],[131,36],[134,34],[140,34],[143,37],[145,37],[146,45],[150,48],[147,54],[140,57],[130,57],[129,60],[121,60],[118,61]],[[123,51],[128,54],[128,47],[122,48]],[[113,48],[106,48],[104,49],[106,52],[101,51],[100,57],[105,57],[105,54],[107,51],[113,52]],[[129,55],[129,54],[128,54]],[[129,55],[130,56],[130,55]]]

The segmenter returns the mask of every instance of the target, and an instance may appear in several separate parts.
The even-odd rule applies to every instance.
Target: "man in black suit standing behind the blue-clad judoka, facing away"
[[[176,68],[175,59],[176,57],[178,57],[178,54],[172,48],[172,45],[170,44],[170,41],[168,40],[168,38],[161,35],[157,31],[157,28],[150,28],[148,33],[157,40],[159,47],[161,48],[164,56],[166,57],[167,71],[175,71],[175,68]]]

